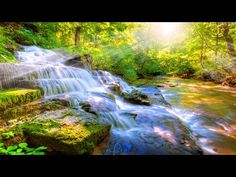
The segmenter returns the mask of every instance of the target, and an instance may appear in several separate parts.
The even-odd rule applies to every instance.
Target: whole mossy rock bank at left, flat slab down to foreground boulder
[[[99,124],[96,115],[41,96],[37,89],[0,91],[0,142],[46,146],[46,154],[91,154],[109,135],[110,126]]]

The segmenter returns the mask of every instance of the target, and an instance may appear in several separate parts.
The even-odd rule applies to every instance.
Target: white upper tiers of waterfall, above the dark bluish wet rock
[[[23,73],[22,77],[39,84],[44,90],[45,98],[66,97],[75,108],[80,103],[91,103],[100,122],[111,124],[116,128],[130,128],[132,121],[119,114],[119,107],[108,94],[114,94],[107,88],[109,83],[119,82],[121,89],[132,88],[121,78],[107,71],[91,71],[84,68],[67,66],[68,56],[36,46],[23,47],[16,52],[21,65],[34,68]],[[5,71],[4,71],[5,72]],[[17,74],[16,74],[17,76]]]

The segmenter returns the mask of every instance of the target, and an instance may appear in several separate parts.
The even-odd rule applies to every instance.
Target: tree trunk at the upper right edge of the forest
[[[228,22],[224,22],[223,23],[223,35],[227,44],[227,48],[228,48],[228,53],[231,57],[231,62],[233,64],[233,67],[236,67],[236,53],[235,53],[235,49],[234,49],[234,42],[233,42],[233,38],[232,36],[229,34],[229,23]]]

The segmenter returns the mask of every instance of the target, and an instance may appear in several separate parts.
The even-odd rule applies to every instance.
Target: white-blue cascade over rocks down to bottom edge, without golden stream
[[[65,62],[69,57],[60,52],[28,46],[16,52],[16,56],[20,65],[33,68],[22,72],[22,76],[38,83],[45,99],[66,98],[78,110],[81,103],[88,102],[100,123],[112,125],[104,154],[199,153],[197,145],[188,145],[194,140],[181,121],[168,112],[169,107],[155,101],[151,106],[128,103],[109,89],[109,84],[119,83],[120,89],[128,93],[140,88],[129,86],[106,71],[67,66]],[[155,100],[159,99],[156,95],[160,95],[160,91],[154,88],[146,94]],[[183,140],[187,143],[182,143]]]

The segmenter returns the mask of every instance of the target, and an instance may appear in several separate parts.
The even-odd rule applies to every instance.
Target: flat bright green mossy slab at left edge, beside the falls
[[[38,89],[13,89],[0,91],[0,112],[26,104],[41,98],[41,91]]]

